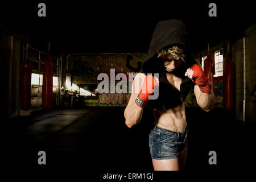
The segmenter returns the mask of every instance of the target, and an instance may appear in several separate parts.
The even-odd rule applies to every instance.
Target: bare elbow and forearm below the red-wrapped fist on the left
[[[128,127],[133,127],[137,125],[142,118],[143,108],[138,107],[135,103],[129,105],[125,109],[125,124]]]

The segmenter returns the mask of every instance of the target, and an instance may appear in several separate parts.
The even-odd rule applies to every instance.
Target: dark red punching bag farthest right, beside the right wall
[[[224,109],[234,109],[234,63],[231,57],[224,62],[223,67],[223,85],[224,85]]]

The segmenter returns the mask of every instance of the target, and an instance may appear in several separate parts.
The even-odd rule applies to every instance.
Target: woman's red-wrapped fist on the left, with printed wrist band
[[[147,75],[144,78],[141,91],[135,99],[135,104],[139,107],[145,107],[148,102],[148,96],[154,94],[155,87],[158,86],[158,78],[154,78],[152,75]]]

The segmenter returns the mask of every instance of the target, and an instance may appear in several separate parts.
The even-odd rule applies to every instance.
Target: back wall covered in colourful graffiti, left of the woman
[[[97,80],[97,77],[100,73],[106,73],[110,78],[110,69],[114,69],[114,77],[118,73],[125,73],[128,79],[129,74],[134,74],[141,70],[144,57],[146,57],[146,53],[70,55],[69,67],[72,75],[72,84],[92,93],[91,97],[84,97],[82,105],[126,106],[129,101],[130,94],[98,94],[96,89],[101,80]],[[116,81],[115,85],[118,82],[119,81]],[[92,97],[93,95],[95,96]]]

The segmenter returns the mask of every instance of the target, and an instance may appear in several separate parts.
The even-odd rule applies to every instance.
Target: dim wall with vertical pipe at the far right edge
[[[246,102],[245,121],[256,122],[255,102],[251,102],[250,90],[256,84],[256,31],[255,26],[245,31]],[[243,120],[243,39],[232,44],[233,61],[236,64],[236,119]]]

